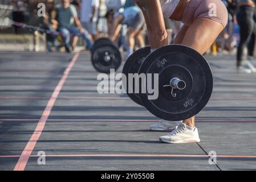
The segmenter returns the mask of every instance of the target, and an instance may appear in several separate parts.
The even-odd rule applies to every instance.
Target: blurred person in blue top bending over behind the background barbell
[[[145,47],[145,42],[143,38],[143,31],[145,27],[145,20],[143,13],[137,6],[131,6],[124,9],[122,13],[113,10],[109,10],[105,15],[107,22],[109,24],[109,38],[115,42],[118,38],[122,24],[127,24],[128,26],[128,50],[127,55],[130,56],[135,48],[135,37],[137,38],[138,46]]]

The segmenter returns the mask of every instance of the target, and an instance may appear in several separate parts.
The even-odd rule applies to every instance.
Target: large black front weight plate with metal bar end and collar
[[[193,117],[205,107],[212,94],[213,75],[208,62],[200,53],[186,46],[164,46],[152,52],[141,64],[139,75],[142,73],[159,73],[159,97],[148,100],[152,94],[141,91],[139,97],[143,105],[161,119],[180,121]],[[176,97],[170,94],[170,86],[164,88],[174,77],[186,82],[184,90],[174,89]],[[141,88],[147,88],[147,79],[140,84]]]

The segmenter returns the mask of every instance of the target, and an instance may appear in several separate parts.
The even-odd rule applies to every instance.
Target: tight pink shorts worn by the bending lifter
[[[226,6],[221,0],[190,0],[183,11],[181,22],[190,26],[197,18],[209,18],[226,27]]]

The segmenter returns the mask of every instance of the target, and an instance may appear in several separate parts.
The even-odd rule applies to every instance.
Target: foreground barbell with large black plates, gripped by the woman
[[[131,77],[136,73],[137,76]],[[187,46],[173,44],[152,53],[150,47],[141,48],[128,58],[123,74],[127,77],[123,86],[128,96],[156,117],[167,121],[193,117],[206,106],[212,95],[210,65],[204,56]],[[141,75],[145,75],[144,80]],[[153,75],[157,80],[152,80]],[[158,97],[149,99],[152,93],[148,89],[141,91],[156,85],[155,81]]]

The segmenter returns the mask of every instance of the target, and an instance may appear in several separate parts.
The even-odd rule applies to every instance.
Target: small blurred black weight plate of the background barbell
[[[105,59],[108,57],[108,60]],[[97,47],[92,52],[92,65],[101,73],[110,73],[110,69],[117,70],[121,65],[121,53],[113,44]]]

